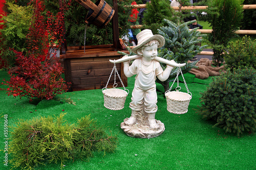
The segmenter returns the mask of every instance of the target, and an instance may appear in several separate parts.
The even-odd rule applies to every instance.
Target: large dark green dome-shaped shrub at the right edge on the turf
[[[226,132],[256,131],[256,70],[233,69],[221,74],[202,94],[199,113]]]

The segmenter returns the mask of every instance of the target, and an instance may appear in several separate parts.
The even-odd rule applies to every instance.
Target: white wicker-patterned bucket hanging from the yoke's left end
[[[121,110],[124,108],[124,103],[128,92],[118,88],[108,88],[102,90],[104,95],[104,106],[110,110]]]

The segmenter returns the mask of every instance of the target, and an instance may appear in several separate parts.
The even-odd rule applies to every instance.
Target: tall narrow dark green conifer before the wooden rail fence
[[[236,36],[243,18],[242,2],[240,0],[214,0],[209,3],[206,18],[212,26],[209,34],[214,55],[212,59],[217,66],[223,62],[223,52],[228,41]]]

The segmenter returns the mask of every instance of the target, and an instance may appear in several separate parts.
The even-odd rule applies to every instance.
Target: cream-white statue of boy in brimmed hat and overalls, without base
[[[137,123],[137,114],[144,109],[148,115],[148,125],[151,129],[157,129],[155,115],[157,112],[156,78],[165,81],[170,75],[173,66],[167,65],[163,71],[157,57],[157,48],[164,45],[165,40],[161,35],[153,35],[151,30],[143,30],[137,36],[138,45],[132,51],[140,58],[134,60],[131,66],[129,61],[123,62],[124,75],[131,77],[136,75],[135,85],[132,93],[130,108],[132,115],[124,124],[132,126]],[[124,56],[124,58],[127,56]]]

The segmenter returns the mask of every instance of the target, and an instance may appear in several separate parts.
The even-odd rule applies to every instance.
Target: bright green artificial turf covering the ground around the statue
[[[113,111],[104,108],[101,89],[74,91],[58,95],[58,98],[71,98],[75,105],[58,101],[29,103],[27,99],[20,100],[8,96],[0,91],[1,114],[0,126],[4,128],[3,115],[8,114],[8,128],[15,126],[18,119],[31,119],[36,116],[65,115],[69,123],[76,123],[82,116],[91,114],[91,118],[99,124],[105,125],[118,136],[119,145],[115,153],[95,153],[89,161],[70,160],[65,163],[65,169],[255,169],[256,165],[256,137],[253,134],[244,134],[237,137],[226,134],[220,128],[212,128],[213,122],[203,120],[196,113],[200,105],[200,92],[206,90],[212,78],[200,80],[191,74],[185,74],[189,91],[193,94],[188,112],[173,114],[166,110],[166,100],[163,96],[163,87],[158,88],[158,112],[156,119],[165,125],[165,131],[158,137],[140,139],[127,136],[120,128],[123,119],[131,115],[129,103],[134,86],[134,77],[128,79],[130,90],[126,98],[124,109]],[[6,71],[0,71],[0,81],[8,79]],[[174,85],[176,87],[176,84]],[[186,92],[183,83],[181,91]],[[0,88],[5,87],[0,85]],[[9,136],[10,137],[10,132]],[[0,133],[0,157],[4,159],[5,136]],[[9,141],[10,142],[10,141]],[[10,156],[8,157],[10,160]],[[10,169],[3,163],[0,169]],[[47,164],[35,167],[40,170],[59,169],[59,164]]]

